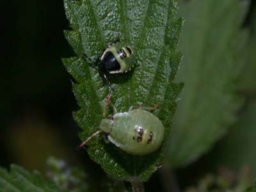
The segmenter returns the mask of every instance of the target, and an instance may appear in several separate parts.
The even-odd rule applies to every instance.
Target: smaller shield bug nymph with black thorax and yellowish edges
[[[121,43],[110,45],[100,57],[103,73],[117,74],[131,70],[134,65],[134,51]]]

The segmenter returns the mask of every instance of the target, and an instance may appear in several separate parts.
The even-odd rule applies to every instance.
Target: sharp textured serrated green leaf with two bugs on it
[[[174,17],[177,5],[173,0],[65,0],[65,8],[74,29],[65,35],[77,56],[63,59],[63,63],[77,81],[73,90],[81,109],[74,113],[74,119],[83,130],[81,140],[99,129],[109,92],[99,71],[83,54],[96,61],[106,45],[119,36],[120,42],[136,52],[136,67],[111,79],[115,89],[111,101],[118,111],[128,111],[140,104],[160,104],[155,115],[164,124],[166,143],[176,99],[183,87],[172,83],[181,59],[181,54],[175,52],[182,26],[182,19]],[[157,170],[163,149],[164,145],[154,154],[132,156],[98,137],[88,143],[87,151],[116,178],[145,181]]]

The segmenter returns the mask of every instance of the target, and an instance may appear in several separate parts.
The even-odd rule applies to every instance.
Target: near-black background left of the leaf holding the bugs
[[[252,0],[244,26],[255,4]],[[1,14],[0,165],[15,163],[44,173],[47,157],[54,155],[103,173],[85,150],[76,150],[79,128],[72,111],[78,107],[72,77],[60,59],[74,55],[63,35],[70,28],[63,1],[3,2]]]

